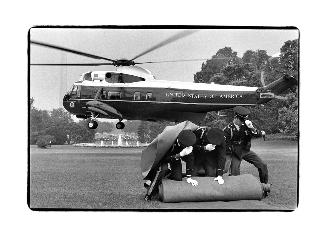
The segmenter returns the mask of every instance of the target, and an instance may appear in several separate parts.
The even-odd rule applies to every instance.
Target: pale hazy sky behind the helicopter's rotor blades
[[[102,28],[31,28],[31,41],[62,46],[109,59],[132,59],[182,29],[102,29]],[[210,59],[220,48],[231,47],[242,57],[247,50],[266,50],[277,56],[284,42],[298,38],[297,29],[199,29],[196,32],[162,46],[135,60],[158,62],[193,59]],[[31,64],[106,63],[73,53],[31,44]],[[159,80],[193,82],[193,75],[201,70],[206,60],[140,64]],[[51,110],[62,107],[65,92],[80,75],[88,71],[115,70],[112,65],[102,66],[40,66],[31,65],[30,93],[34,106]],[[66,90],[60,92],[59,79],[67,76]],[[260,82],[259,82],[260,86]]]

